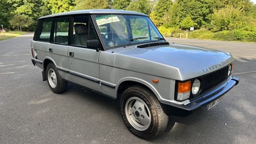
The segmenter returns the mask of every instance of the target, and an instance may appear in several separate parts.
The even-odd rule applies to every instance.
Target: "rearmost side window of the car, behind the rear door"
[[[43,24],[41,27],[41,33],[39,35],[38,40],[49,42],[51,35],[51,27],[52,27],[52,19],[43,20]]]

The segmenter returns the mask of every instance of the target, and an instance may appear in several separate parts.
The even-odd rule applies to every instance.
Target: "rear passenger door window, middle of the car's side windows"
[[[68,44],[68,27],[70,17],[57,17],[54,24],[53,42]]]

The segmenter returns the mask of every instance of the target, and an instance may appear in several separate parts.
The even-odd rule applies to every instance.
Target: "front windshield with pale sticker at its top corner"
[[[95,15],[100,36],[107,49],[164,40],[148,17],[138,15]]]

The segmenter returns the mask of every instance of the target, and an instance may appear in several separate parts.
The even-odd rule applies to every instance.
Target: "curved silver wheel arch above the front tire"
[[[134,86],[134,85],[144,86],[145,88],[150,90],[152,93],[154,93],[154,95],[156,95],[157,99],[161,99],[161,95],[159,94],[159,92],[157,92],[156,88],[154,88],[154,86],[152,86],[152,84],[148,83],[147,81],[145,81],[143,79],[138,79],[138,78],[134,78],[134,77],[125,77],[124,79],[121,79],[120,81],[118,81],[118,84],[116,84],[117,99],[120,99],[120,97],[122,97],[122,93],[124,93],[124,91],[127,88]]]

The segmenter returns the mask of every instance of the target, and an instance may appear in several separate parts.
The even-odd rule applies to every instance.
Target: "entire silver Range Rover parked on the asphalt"
[[[38,19],[32,63],[54,93],[68,82],[120,100],[132,134],[156,138],[172,129],[168,115],[210,109],[239,79],[228,52],[169,44],[148,15],[82,10]]]

